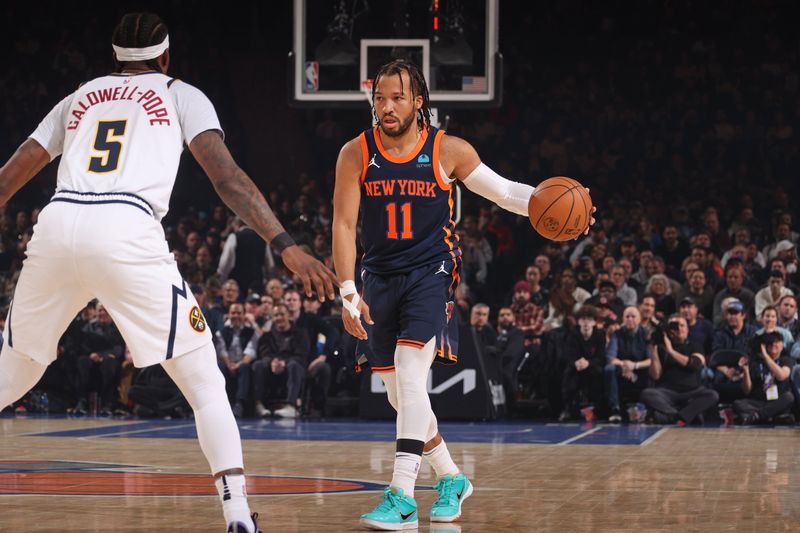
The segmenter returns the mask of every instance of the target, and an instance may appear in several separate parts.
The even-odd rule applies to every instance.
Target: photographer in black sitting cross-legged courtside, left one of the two
[[[681,316],[669,317],[665,331],[651,338],[650,378],[653,387],[640,397],[656,424],[702,422],[706,409],[714,407],[719,394],[700,383],[705,366],[703,348],[689,339],[689,326]]]

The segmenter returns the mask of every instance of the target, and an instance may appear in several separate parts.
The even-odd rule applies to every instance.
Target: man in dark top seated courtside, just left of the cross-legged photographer
[[[622,315],[622,327],[611,337],[606,350],[607,364],[604,367],[606,398],[610,409],[608,421],[622,421],[620,392],[628,393],[636,400],[648,383],[650,367],[650,345],[647,333],[641,327],[641,315],[636,307],[626,307]]]

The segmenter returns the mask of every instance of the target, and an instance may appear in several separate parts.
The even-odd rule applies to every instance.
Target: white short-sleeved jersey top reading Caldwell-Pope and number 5
[[[58,191],[127,193],[167,213],[183,144],[222,133],[195,87],[157,72],[111,74],[59,102],[31,134],[58,166]]]

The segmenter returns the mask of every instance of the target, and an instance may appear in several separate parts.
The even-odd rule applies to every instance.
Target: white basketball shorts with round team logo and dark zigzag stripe
[[[53,362],[64,330],[92,298],[114,319],[137,367],[211,342],[163,228],[138,197],[54,196],[28,243],[6,342],[35,361]]]

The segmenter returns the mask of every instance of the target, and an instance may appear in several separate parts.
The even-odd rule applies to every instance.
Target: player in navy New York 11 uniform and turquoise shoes
[[[458,348],[452,311],[461,250],[452,220],[453,183],[461,180],[522,216],[533,187],[499,176],[469,143],[430,124],[425,79],[408,61],[378,71],[373,114],[375,127],[345,144],[336,163],[333,258],[339,279],[346,280],[340,289],[344,327],[368,343],[363,353],[397,411],[392,481],[361,522],[374,529],[414,529],[414,483],[423,455],[438,478],[432,521],[457,520],[472,493],[438,432],[426,390],[434,359],[455,363]],[[359,210],[361,295],[354,281]]]

